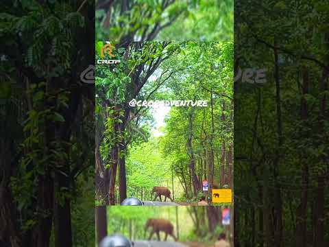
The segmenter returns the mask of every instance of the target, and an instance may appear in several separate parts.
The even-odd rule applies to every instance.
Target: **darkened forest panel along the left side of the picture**
[[[93,246],[93,1],[0,9],[0,246]]]

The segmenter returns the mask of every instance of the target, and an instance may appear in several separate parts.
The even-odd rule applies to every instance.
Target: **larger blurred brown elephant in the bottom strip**
[[[145,224],[145,233],[147,232],[147,229],[151,227],[151,234],[149,235],[149,239],[156,233],[158,237],[158,241],[160,241],[160,231],[164,232],[166,235],[164,237],[164,241],[167,241],[168,235],[171,235],[173,239],[175,239],[175,242],[178,240],[175,235],[173,235],[173,224],[169,222],[169,220],[164,219],[149,219],[147,220]]]

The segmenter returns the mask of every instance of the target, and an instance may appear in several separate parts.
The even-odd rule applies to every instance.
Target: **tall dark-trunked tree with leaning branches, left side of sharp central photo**
[[[115,203],[114,187],[118,167],[120,202],[127,198],[126,150],[132,141],[136,141],[133,139],[136,136],[134,132],[141,133],[138,121],[143,117],[143,110],[131,108],[128,102],[151,97],[154,91],[145,91],[145,85],[160,64],[178,52],[179,45],[171,42],[132,43],[127,47],[118,47],[118,58],[123,58],[123,62],[113,70],[106,65],[97,66],[96,69],[96,112],[99,113],[97,135],[101,137],[97,147],[99,154],[103,153],[101,158],[97,158],[97,176],[99,180],[108,181],[104,187],[110,188],[110,191],[99,190],[103,191],[101,198],[106,204]],[[162,84],[163,80],[166,79],[160,78],[154,84]],[[101,163],[102,158],[105,163]],[[107,164],[109,167],[104,170]]]

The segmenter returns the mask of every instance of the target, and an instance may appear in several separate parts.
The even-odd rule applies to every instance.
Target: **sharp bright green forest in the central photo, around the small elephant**
[[[169,189],[175,202],[197,202],[205,179],[209,191],[232,188],[232,43],[119,45],[119,64],[96,67],[97,204],[154,200],[154,187]],[[131,107],[132,99],[208,104]]]

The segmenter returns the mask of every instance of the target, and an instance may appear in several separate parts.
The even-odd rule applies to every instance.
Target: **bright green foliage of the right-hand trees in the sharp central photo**
[[[186,43],[180,56],[166,61],[169,66],[188,69],[175,74],[168,82],[170,99],[207,99],[206,108],[172,108],[166,120],[161,147],[167,156],[171,156],[175,172],[184,176],[191,154],[188,154],[186,142],[193,133],[192,148],[200,162],[206,162],[204,155],[211,145],[215,156],[221,153],[221,145],[232,145],[232,75],[233,75],[232,43]],[[210,108],[210,91],[213,92],[214,132],[212,133],[212,112]],[[223,109],[223,104],[226,108]],[[192,126],[187,119],[192,116]],[[222,116],[226,120],[222,120]],[[212,133],[212,134],[211,134]],[[212,143],[211,143],[212,142]],[[218,153],[218,154],[217,154]],[[219,164],[219,167],[221,165]],[[204,167],[197,167],[199,179],[208,176]],[[219,183],[220,169],[215,168],[215,181]],[[188,174],[186,174],[188,176]],[[223,182],[221,182],[223,183]],[[188,195],[186,195],[188,197]]]

